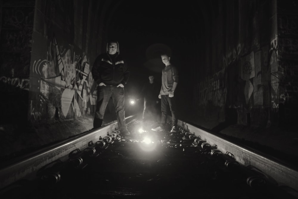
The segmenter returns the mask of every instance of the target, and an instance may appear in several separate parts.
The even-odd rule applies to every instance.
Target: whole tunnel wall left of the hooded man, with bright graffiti
[[[94,112],[91,65],[105,49],[109,4],[94,0],[3,1],[3,123],[63,120]]]

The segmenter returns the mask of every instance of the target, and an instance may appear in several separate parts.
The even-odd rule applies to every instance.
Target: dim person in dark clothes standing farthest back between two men
[[[157,84],[154,82],[154,76],[149,75],[149,82],[144,84],[141,91],[141,96],[144,97],[144,109],[143,109],[142,121],[148,120],[150,116],[153,119],[157,118],[156,104],[159,103],[159,100],[157,98],[159,88],[157,87],[158,87]]]

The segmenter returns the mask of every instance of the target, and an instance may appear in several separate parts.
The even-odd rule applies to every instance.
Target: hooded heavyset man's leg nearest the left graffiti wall
[[[93,128],[101,127],[103,123],[103,115],[105,114],[105,108],[111,97],[111,89],[100,86],[97,89],[97,104],[93,121]]]

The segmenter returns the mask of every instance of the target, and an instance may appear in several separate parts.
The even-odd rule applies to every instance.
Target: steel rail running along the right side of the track
[[[268,156],[264,155],[262,152],[249,147],[232,143],[225,138],[207,132],[207,130],[198,128],[193,124],[178,120],[178,125],[195,133],[196,136],[200,136],[202,140],[206,140],[211,146],[216,145],[217,149],[223,154],[233,154],[235,160],[239,163],[254,166],[266,175],[269,175],[277,181],[278,184],[289,186],[298,191],[298,171],[289,167],[286,163],[268,158]]]

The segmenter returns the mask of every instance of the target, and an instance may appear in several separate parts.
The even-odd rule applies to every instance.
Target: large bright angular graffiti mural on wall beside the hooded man
[[[91,87],[94,80],[87,56],[78,55],[69,45],[63,48],[55,36],[49,44],[47,58],[34,61],[32,72],[40,75],[40,92],[49,99],[51,87],[61,92],[61,114],[64,117],[81,116],[88,111],[88,102],[95,101]],[[53,103],[53,102],[52,102]]]

